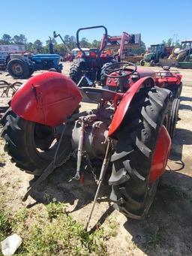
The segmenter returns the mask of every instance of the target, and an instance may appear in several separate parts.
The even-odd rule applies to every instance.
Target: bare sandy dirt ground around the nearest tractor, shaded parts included
[[[63,73],[68,74],[70,63],[64,65]],[[96,204],[90,227],[94,228],[98,221],[105,229],[113,227],[114,233],[106,241],[110,255],[192,255],[192,70],[178,71],[183,74],[184,85],[179,120],[167,171],[160,179],[148,215],[142,221],[125,218],[107,202],[110,188],[102,186],[101,200]],[[0,80],[10,83],[15,81],[5,77],[5,74],[0,74]],[[1,92],[2,89],[0,95]],[[0,106],[7,101],[8,98],[1,97]],[[0,185],[8,184],[10,193],[13,193],[10,206],[36,207],[39,203],[46,204],[55,198],[68,203],[74,218],[86,224],[97,188],[91,173],[86,174],[84,185],[76,181],[68,183],[75,171],[75,162],[72,160],[55,170],[23,203],[22,196],[33,182],[33,176],[18,169],[10,157],[3,154],[4,141],[0,140],[0,143],[1,158],[6,160],[5,164],[0,163]]]

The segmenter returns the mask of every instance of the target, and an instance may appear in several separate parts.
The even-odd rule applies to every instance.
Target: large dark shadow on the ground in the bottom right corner
[[[148,256],[192,254],[192,178],[166,172],[145,219],[128,219],[124,228]]]

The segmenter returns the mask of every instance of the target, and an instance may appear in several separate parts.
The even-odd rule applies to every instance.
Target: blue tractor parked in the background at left
[[[21,79],[31,77],[34,71],[48,71],[51,68],[61,73],[63,67],[59,62],[60,56],[58,54],[10,54],[7,71],[11,77]]]

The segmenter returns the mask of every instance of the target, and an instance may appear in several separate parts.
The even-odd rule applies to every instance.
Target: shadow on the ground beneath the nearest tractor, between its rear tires
[[[100,174],[100,168],[100,163],[96,162],[94,164],[94,171],[97,178]],[[83,184],[77,180],[69,182],[69,180],[75,175],[75,170],[76,162],[74,160],[68,162],[64,167],[58,168],[41,183],[37,190],[32,192],[31,197],[36,200],[36,203],[46,204],[55,200],[58,202],[70,203],[71,206],[75,204],[73,211],[83,208],[94,199],[98,185],[90,170],[85,172],[85,180]],[[34,179],[29,182],[30,185],[32,185],[33,182]],[[101,187],[100,197],[109,197],[110,187],[107,185],[107,181],[104,181],[104,184],[106,185]],[[31,206],[33,205],[28,205],[28,207]]]

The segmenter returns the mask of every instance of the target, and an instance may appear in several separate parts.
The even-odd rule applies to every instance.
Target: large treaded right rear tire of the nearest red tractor
[[[151,206],[157,182],[149,184],[151,162],[160,128],[166,119],[171,92],[144,88],[133,98],[127,118],[119,129],[115,153],[110,200],[115,209],[130,218],[142,218]]]

